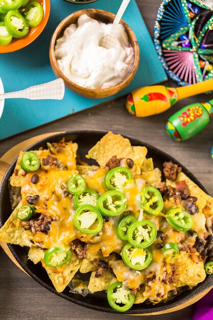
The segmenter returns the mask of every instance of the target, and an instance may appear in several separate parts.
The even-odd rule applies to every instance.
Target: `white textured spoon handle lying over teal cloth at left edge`
[[[61,78],[54,81],[34,85],[24,90],[0,94],[1,99],[25,98],[30,100],[55,99],[62,100],[64,97],[65,86]]]

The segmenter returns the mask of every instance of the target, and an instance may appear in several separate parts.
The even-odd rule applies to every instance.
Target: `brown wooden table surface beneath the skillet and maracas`
[[[153,34],[153,26],[159,0],[137,0],[149,32]],[[146,43],[144,43],[146,50]],[[168,82],[171,86],[175,84]],[[209,97],[208,97],[209,98]],[[211,97],[212,99],[212,97]],[[149,143],[174,156],[186,168],[191,170],[213,196],[212,159],[210,150],[213,145],[213,122],[211,122],[195,138],[177,143],[165,132],[165,123],[175,110],[196,101],[207,101],[205,95],[185,99],[169,111],[149,118],[134,118],[125,109],[125,97],[110,104],[98,106],[78,113],[43,127],[19,134],[0,142],[0,156],[17,143],[32,136],[63,130],[111,130]],[[23,119],[23,121],[25,121]],[[144,320],[169,320],[192,317],[193,306],[175,313],[161,316],[144,316]],[[123,315],[116,315],[122,319]],[[35,280],[20,271],[0,249],[0,319],[7,320],[65,320],[65,319],[114,319],[115,315],[96,312],[70,303],[40,286]],[[125,319],[132,319],[125,316]]]

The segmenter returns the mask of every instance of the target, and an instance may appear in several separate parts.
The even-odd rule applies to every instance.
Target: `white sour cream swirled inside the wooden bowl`
[[[130,72],[134,53],[122,25],[113,29],[113,48],[101,47],[100,40],[111,31],[104,24],[83,14],[78,25],[67,27],[56,41],[55,56],[62,73],[76,84],[93,89],[121,82]]]

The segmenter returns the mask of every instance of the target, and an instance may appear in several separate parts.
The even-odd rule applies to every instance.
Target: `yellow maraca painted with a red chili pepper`
[[[126,107],[136,117],[153,116],[168,110],[178,100],[210,90],[213,90],[213,79],[178,88],[163,85],[142,87],[128,96]]]

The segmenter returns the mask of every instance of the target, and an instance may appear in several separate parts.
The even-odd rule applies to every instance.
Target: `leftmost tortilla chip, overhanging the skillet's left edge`
[[[31,242],[25,231],[21,226],[21,221],[17,218],[17,212],[22,207],[22,202],[20,202],[15,210],[12,212],[8,220],[5,222],[0,230],[0,241],[19,244],[20,246],[31,247]]]

